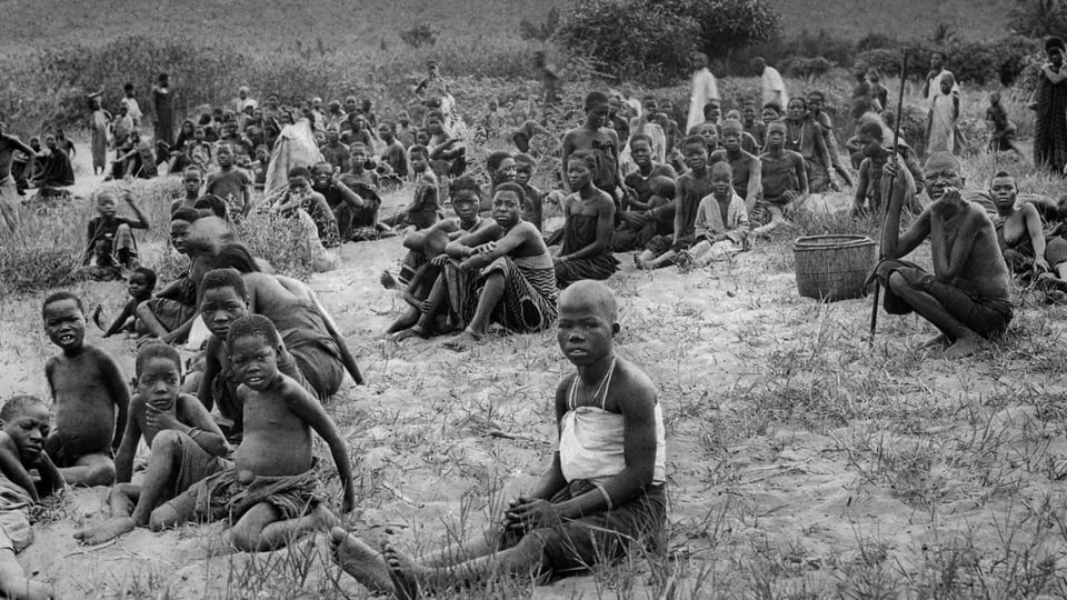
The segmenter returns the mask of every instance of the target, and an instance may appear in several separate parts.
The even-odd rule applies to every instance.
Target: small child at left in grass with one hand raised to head
[[[97,214],[89,220],[89,228],[86,232],[86,252],[82,264],[89,266],[91,259],[96,257],[93,267],[109,269],[123,267],[132,269],[137,262],[137,241],[133,239],[132,229],[148,229],[148,218],[141,212],[141,209],[133,201],[133,194],[130,190],[122,192],[126,203],[137,214],[137,220],[126,217],[116,217],[114,193],[103,191],[97,194]]]

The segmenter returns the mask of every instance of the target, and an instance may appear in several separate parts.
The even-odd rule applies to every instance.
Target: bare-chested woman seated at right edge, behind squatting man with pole
[[[989,194],[997,207],[994,219],[997,242],[1011,272],[1037,274],[1041,281],[1067,289],[1067,240],[1045,236],[1041,216],[1034,203],[1016,206],[1018,184],[1014,177],[999,171],[989,182]]]

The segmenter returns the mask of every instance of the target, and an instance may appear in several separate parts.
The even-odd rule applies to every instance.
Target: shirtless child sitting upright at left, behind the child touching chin
[[[44,442],[52,462],[72,486],[110,486],[114,449],[122,440],[130,390],[114,359],[84,343],[86,312],[70,292],[44,300],[49,340],[62,350],[44,363],[56,403],[56,430]]]

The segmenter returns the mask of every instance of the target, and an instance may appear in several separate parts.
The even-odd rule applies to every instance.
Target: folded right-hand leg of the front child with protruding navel
[[[339,524],[341,520],[322,504],[315,507],[306,517],[282,519],[277,508],[260,502],[242,514],[223,534],[223,539],[242,552],[265,552],[283,548],[305,533]]]

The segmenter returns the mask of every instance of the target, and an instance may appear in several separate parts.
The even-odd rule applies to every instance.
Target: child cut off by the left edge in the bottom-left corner
[[[48,438],[48,407],[32,396],[16,396],[0,408],[0,592],[7,598],[54,598],[48,586],[28,579],[16,559],[33,542],[30,507],[63,489],[63,476],[41,450]]]

